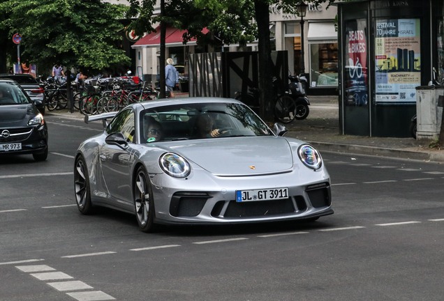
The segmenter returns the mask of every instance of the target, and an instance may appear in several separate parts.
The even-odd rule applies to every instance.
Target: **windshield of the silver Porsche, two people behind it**
[[[140,141],[271,136],[267,125],[236,103],[198,103],[146,109],[140,113]]]

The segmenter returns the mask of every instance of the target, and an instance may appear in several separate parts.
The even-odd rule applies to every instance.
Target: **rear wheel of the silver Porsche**
[[[87,164],[84,162],[84,158],[82,156],[77,157],[77,160],[75,160],[74,192],[75,201],[80,213],[82,213],[82,215],[89,215],[93,213]]]

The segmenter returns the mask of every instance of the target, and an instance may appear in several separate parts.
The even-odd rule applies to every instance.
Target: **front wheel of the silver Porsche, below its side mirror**
[[[135,216],[142,232],[153,232],[154,224],[154,199],[149,177],[144,167],[140,167],[136,173],[133,184],[133,199]]]

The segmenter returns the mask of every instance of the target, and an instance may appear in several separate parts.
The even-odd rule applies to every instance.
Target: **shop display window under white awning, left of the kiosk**
[[[338,43],[311,44],[311,87],[338,86]]]

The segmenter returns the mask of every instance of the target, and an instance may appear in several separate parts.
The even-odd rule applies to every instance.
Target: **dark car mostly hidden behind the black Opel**
[[[12,79],[22,86],[23,90],[29,95],[38,111],[45,115],[46,96],[43,86],[40,86],[37,79],[29,74],[0,74],[0,79]]]

